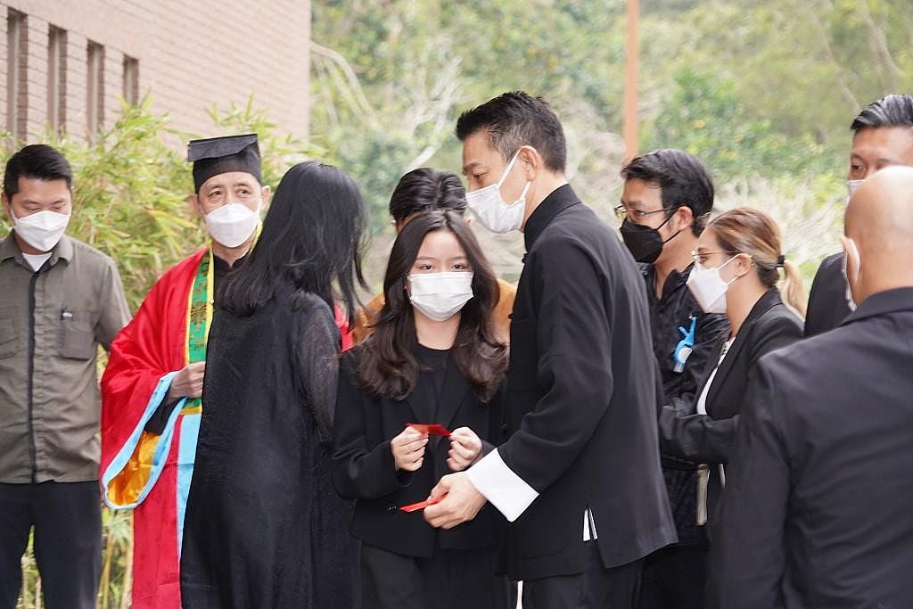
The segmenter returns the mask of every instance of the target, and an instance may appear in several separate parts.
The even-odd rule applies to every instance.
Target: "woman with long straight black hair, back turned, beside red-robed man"
[[[364,225],[350,178],[295,165],[221,288],[184,523],[185,607],[357,605],[352,508],[331,482],[332,307],[355,310]]]

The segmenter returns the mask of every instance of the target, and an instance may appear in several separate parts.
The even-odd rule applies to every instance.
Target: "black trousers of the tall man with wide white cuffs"
[[[643,561],[606,569],[596,542],[583,544],[583,572],[524,581],[523,609],[636,609]]]

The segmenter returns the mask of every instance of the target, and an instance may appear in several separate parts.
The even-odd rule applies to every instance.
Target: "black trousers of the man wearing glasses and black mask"
[[[647,556],[640,609],[703,609],[706,546],[666,546]]]

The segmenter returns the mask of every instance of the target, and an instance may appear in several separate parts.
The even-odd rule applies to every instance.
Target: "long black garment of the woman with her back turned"
[[[355,606],[352,504],[333,490],[326,446],[339,347],[330,306],[288,285],[252,315],[215,311],[184,520],[184,607]]]

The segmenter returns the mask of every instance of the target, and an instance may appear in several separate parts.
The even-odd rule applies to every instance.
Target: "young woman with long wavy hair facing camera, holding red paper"
[[[487,323],[498,282],[465,220],[435,211],[396,238],[383,292],[373,333],[342,356],[334,428],[333,481],[357,500],[364,607],[503,609],[496,510],[436,530],[401,509],[502,440],[507,348]]]

